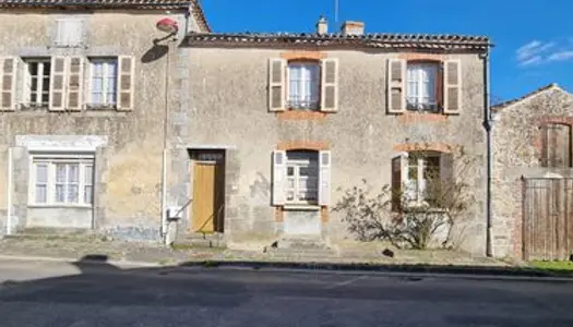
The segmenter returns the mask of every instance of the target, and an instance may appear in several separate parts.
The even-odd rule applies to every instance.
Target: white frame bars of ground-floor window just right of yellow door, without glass
[[[293,158],[288,158],[288,154],[293,154],[293,153],[297,153],[297,150],[289,150],[287,152],[286,154],[286,170],[285,170],[285,173],[286,173],[286,182],[285,182],[285,203],[286,204],[290,204],[290,205],[318,205],[319,204],[319,187],[320,187],[320,173],[319,173],[319,153],[318,152],[309,152],[309,154],[311,154],[310,156],[315,156],[315,160],[311,160],[310,158],[308,159],[293,159]],[[313,164],[311,164],[311,161],[314,161]],[[300,175],[300,168],[308,168],[308,169],[311,169],[312,170],[312,165],[314,165],[314,172],[315,172],[315,175],[314,175],[314,179],[315,179],[315,187],[314,189],[308,189],[308,183],[307,183],[307,187],[306,189],[302,189],[300,186],[300,180],[303,179],[305,177],[301,177]],[[289,177],[288,175],[288,170],[289,168],[293,168],[294,170],[294,174],[293,177]],[[294,179],[294,187],[289,187],[289,181]],[[307,178],[308,179],[308,178]],[[315,199],[300,199],[299,198],[299,193],[301,191],[306,191],[307,194],[309,194],[310,191],[314,190],[314,198]],[[294,198],[293,199],[289,199],[288,198],[288,194],[289,192],[294,192]]]

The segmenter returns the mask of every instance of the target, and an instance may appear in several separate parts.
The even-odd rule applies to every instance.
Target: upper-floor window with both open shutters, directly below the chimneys
[[[270,111],[337,111],[338,60],[270,59],[267,101]]]

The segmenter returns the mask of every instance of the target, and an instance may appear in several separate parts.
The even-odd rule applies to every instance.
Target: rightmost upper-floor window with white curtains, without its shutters
[[[406,100],[408,110],[438,109],[438,63],[408,63],[406,69]]]

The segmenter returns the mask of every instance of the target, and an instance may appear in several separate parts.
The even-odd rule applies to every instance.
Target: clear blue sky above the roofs
[[[491,94],[511,99],[558,83],[573,92],[571,0],[201,0],[214,32],[312,32],[321,14],[337,31],[362,21],[367,33],[488,35]]]

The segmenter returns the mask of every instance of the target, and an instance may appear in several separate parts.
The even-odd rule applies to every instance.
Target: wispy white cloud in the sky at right
[[[570,45],[564,46],[571,48]],[[549,51],[553,50],[556,47],[560,49],[556,51]],[[563,48],[563,46],[556,41],[545,43],[534,39],[520,47],[515,51],[515,57],[517,59],[518,65],[521,66],[573,59],[573,50]]]

